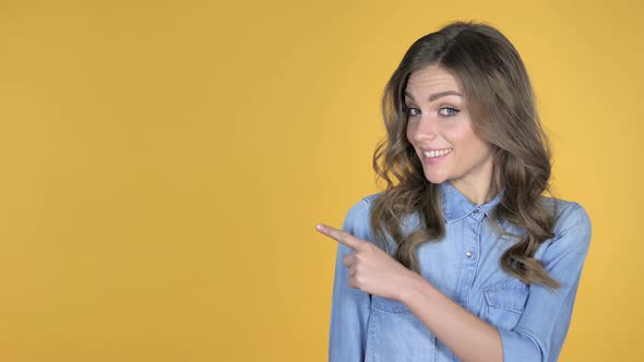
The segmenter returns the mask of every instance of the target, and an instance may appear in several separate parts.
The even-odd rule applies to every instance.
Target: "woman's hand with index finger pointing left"
[[[351,288],[401,301],[403,289],[408,285],[408,280],[418,277],[418,274],[366,240],[322,224],[315,228],[354,251],[343,258],[343,264],[349,269]]]

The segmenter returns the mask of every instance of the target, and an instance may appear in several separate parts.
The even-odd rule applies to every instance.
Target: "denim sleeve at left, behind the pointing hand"
[[[349,209],[343,230],[357,238],[370,240],[369,202],[367,200],[361,200]],[[331,305],[329,361],[363,361],[371,295],[349,287],[348,269],[342,264],[342,261],[353,251],[341,243],[337,245]]]

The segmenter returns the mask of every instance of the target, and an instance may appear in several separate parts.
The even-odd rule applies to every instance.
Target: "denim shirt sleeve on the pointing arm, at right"
[[[582,267],[591,243],[591,220],[582,206],[562,210],[552,241],[540,258],[561,287],[530,286],[524,312],[512,330],[499,329],[504,361],[557,361],[568,333]]]

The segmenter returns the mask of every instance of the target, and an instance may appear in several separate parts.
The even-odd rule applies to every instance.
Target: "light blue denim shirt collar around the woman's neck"
[[[480,213],[489,216],[494,206],[501,202],[501,196],[503,192],[494,196],[491,201],[482,204],[482,205],[475,205],[473,204],[465,195],[463,195],[456,188],[454,188],[449,181],[440,183],[438,185],[441,202],[443,205],[443,214],[448,222],[456,221],[466,217],[472,213]]]

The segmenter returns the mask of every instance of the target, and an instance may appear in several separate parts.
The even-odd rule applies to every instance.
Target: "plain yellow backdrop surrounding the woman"
[[[0,360],[324,361],[382,88],[488,21],[594,226],[561,361],[644,359],[637,2],[0,2]]]

